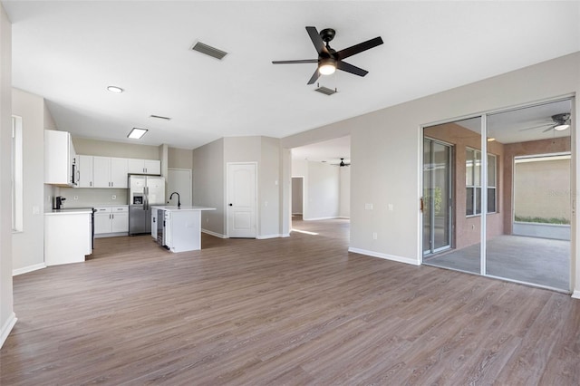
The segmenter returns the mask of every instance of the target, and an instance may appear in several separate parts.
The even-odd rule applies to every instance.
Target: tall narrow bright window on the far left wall
[[[12,117],[12,230],[23,231],[22,118]]]

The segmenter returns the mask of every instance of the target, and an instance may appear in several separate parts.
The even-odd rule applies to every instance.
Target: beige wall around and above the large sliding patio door
[[[418,265],[421,125],[578,92],[580,53],[574,53],[309,130],[283,139],[282,146],[295,148],[350,134],[351,154],[356,159],[351,166],[351,250]],[[576,98],[576,112],[578,106]],[[580,140],[578,136],[573,139],[575,176],[580,168]],[[573,189],[580,191],[578,179],[573,181]],[[365,204],[373,208],[365,209]],[[580,229],[575,214],[574,223],[576,239]],[[373,232],[378,234],[377,240],[372,239]],[[575,291],[580,296],[580,251],[575,240],[573,246]]]

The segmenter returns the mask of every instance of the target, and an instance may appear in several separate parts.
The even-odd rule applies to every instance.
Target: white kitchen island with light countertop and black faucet
[[[151,207],[151,236],[171,252],[201,249],[201,211],[215,207]]]

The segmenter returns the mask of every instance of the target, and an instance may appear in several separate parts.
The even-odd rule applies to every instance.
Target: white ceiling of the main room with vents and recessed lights
[[[130,141],[142,127],[139,143],[185,149],[283,138],[580,50],[576,1],[2,3],[14,87],[42,95],[60,130]],[[321,78],[338,89],[326,96],[306,85],[314,64],[271,63],[316,57],[306,25],[334,28],[337,50],[379,35],[384,44],[348,59],[366,77]],[[191,52],[198,41],[228,55]]]

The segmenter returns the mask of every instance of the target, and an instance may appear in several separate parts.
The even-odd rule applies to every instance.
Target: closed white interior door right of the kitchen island
[[[256,163],[227,164],[227,236],[256,237]]]

